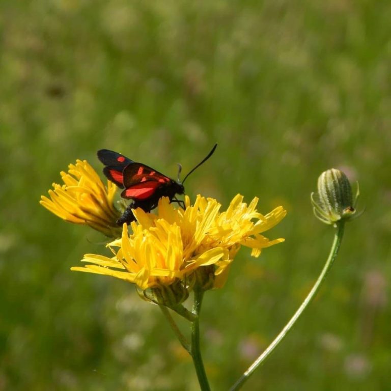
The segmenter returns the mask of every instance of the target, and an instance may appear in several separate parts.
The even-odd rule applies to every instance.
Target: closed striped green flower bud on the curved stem
[[[358,195],[357,184],[356,198],[353,202],[350,182],[342,171],[327,170],[318,178],[318,192],[311,194],[314,214],[319,220],[330,225],[336,225],[341,220],[349,220],[356,213]]]

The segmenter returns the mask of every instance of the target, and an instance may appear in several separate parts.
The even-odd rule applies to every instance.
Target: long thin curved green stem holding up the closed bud
[[[299,309],[293,315],[291,320],[287,323],[287,325],[283,328],[283,330],[278,334],[278,336],[274,339],[274,341],[266,348],[266,350],[253,362],[253,364],[247,369],[246,372],[238,379],[238,381],[231,387],[230,391],[235,391],[240,389],[244,382],[254,373],[254,371],[266,360],[266,358],[273,352],[273,350],[284,340],[287,336],[288,332],[291,330],[293,325],[299,319],[300,315],[307,308],[308,304],[312,301],[312,299],[317,294],[319,287],[322,285],[323,281],[326,278],[328,271],[330,270],[334,259],[336,259],[338,250],[341,246],[342,237],[344,234],[344,221],[339,222],[337,224],[337,231],[334,234],[334,241],[331,246],[330,254],[327,258],[327,261],[323,267],[322,272],[320,273],[318,280],[315,285],[311,289],[308,296],[304,299]]]

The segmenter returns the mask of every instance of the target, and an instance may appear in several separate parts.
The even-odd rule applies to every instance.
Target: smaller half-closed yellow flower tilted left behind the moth
[[[90,226],[106,236],[121,234],[116,225],[120,214],[113,205],[117,190],[114,183],[107,181],[104,186],[86,160],[69,164],[68,173],[61,172],[61,178],[64,185],[53,183],[50,199],[41,196],[42,206],[66,221]]]

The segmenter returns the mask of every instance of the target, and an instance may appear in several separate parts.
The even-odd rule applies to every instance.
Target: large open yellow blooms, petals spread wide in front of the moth
[[[174,208],[167,198],[159,200],[157,214],[135,209],[133,233],[124,225],[121,239],[108,244],[114,257],[87,254],[83,262],[88,264],[72,270],[111,275],[142,290],[179,282],[188,290],[195,283],[203,289],[220,288],[241,245],[258,257],[262,248],[284,240],[261,235],[285,216],[282,207],[263,216],[255,209],[257,198],[249,206],[242,200],[238,194],[221,213],[216,200],[201,195],[194,205],[186,196],[185,209]]]

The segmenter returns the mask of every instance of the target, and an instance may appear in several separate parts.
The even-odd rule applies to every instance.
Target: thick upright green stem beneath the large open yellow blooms
[[[201,391],[210,391],[208,378],[204,364],[202,362],[201,350],[200,350],[200,318],[202,298],[204,292],[195,287],[194,288],[194,301],[192,313],[195,315],[195,319],[191,322],[191,357],[193,359],[195,372],[197,373],[198,382],[200,383]]]

